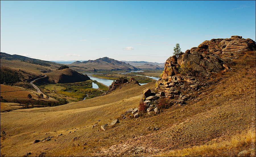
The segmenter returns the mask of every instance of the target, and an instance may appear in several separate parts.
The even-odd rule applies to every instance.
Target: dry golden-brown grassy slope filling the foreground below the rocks
[[[256,110],[255,52],[234,62],[232,70],[212,76],[212,85],[195,92],[185,106],[172,106],[159,114],[120,117],[139,106],[143,90],[153,91],[154,82],[125,84],[108,95],[62,106],[1,113],[1,131],[7,133],[1,139],[1,156],[29,152],[31,156],[238,156],[242,150],[250,152]],[[120,123],[100,130],[114,118]]]

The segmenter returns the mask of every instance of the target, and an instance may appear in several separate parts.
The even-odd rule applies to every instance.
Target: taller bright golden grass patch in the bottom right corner
[[[208,144],[195,146],[192,148],[185,148],[181,150],[173,150],[170,153],[161,154],[160,156],[229,156],[228,150],[236,150],[241,147],[249,147],[251,150],[254,146],[255,155],[255,129],[252,131],[249,129],[247,132],[237,134],[228,141],[222,142],[209,142]],[[240,150],[239,150],[240,151]],[[251,152],[249,152],[251,154]],[[248,156],[250,154],[247,154]],[[238,154],[237,154],[238,155]]]

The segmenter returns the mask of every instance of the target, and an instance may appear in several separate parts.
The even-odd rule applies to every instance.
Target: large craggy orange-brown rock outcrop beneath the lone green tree
[[[188,88],[198,89],[205,86],[195,76],[182,76],[179,74],[179,67],[187,62],[193,64],[194,71],[200,73],[204,79],[213,73],[228,70],[228,65],[234,64],[233,60],[246,51],[255,51],[255,41],[244,39],[241,36],[231,36],[227,39],[206,40],[198,47],[193,47],[180,55],[174,55],[166,60],[161,79],[156,81],[156,90],[163,91],[167,98],[179,96],[181,90]],[[192,85],[191,85],[192,84]],[[187,88],[188,87],[188,88]]]

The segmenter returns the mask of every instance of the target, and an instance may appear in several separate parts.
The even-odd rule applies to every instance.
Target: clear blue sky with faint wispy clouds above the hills
[[[164,63],[205,40],[255,41],[255,1],[1,1],[1,52]]]

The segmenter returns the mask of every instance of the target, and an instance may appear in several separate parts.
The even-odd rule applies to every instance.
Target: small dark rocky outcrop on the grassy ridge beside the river
[[[128,84],[128,83],[138,84],[140,86],[139,82],[134,78],[131,78],[130,81],[128,81],[126,78],[120,77],[119,79],[113,81],[112,84],[109,86],[108,91],[103,93],[102,95],[106,95],[109,92],[111,92],[117,88],[120,88],[122,85]]]

